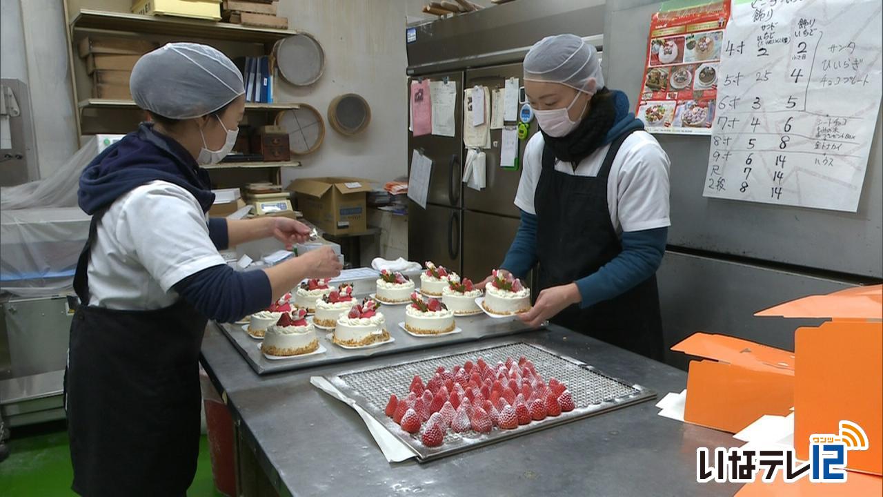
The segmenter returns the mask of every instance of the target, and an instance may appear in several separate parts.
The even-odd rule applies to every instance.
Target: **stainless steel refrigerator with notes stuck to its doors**
[[[543,36],[562,32],[585,36],[600,49],[602,1],[513,2],[414,27],[407,44],[410,80],[448,80],[457,84],[457,133],[454,137],[408,133],[408,158],[413,150],[433,161],[426,209],[411,203],[408,253],[414,261],[433,261],[467,278],[482,279],[502,263],[519,223],[515,204],[520,167],[500,167],[502,131],[491,130],[486,187],[478,191],[462,182],[464,88],[503,88],[505,80],[521,80],[525,53]],[[410,80],[408,88],[410,88]],[[507,122],[506,125],[515,125]],[[519,143],[524,157],[527,141]],[[409,163],[410,171],[410,163]],[[530,279],[530,276],[528,277]]]

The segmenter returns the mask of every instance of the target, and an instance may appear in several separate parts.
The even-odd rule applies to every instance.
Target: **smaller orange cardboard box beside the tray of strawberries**
[[[727,335],[694,333],[671,348],[690,356],[683,419],[739,432],[765,414],[794,405],[794,355]]]

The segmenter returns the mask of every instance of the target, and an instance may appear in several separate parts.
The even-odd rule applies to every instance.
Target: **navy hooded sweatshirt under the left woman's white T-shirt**
[[[155,180],[185,188],[200,203],[203,213],[215,201],[208,172],[190,152],[144,123],[86,166],[79,177],[79,207],[95,215],[132,189]],[[209,219],[208,234],[215,248],[227,248],[226,219]],[[226,264],[198,271],[173,288],[196,310],[220,322],[235,321],[265,309],[273,299],[264,271],[237,272]]]

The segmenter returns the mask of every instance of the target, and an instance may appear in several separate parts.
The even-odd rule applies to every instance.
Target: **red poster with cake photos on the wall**
[[[712,134],[729,1],[675,0],[650,20],[635,114],[658,134]]]

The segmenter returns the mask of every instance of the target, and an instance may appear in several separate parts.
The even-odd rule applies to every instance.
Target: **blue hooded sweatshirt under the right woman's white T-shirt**
[[[613,93],[616,117],[604,141],[605,145],[627,131],[644,129],[644,123],[629,111],[629,98],[618,90]],[[623,251],[598,271],[577,279],[577,288],[582,298],[580,307],[585,309],[612,299],[653,276],[662,262],[667,240],[667,227],[623,232]],[[500,267],[518,278],[524,278],[536,263],[537,217],[521,210],[521,223]]]

